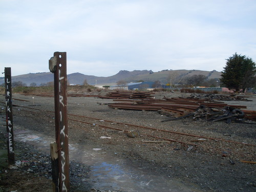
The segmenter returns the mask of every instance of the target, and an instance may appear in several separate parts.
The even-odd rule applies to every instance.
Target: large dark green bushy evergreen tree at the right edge
[[[220,79],[224,86],[236,92],[255,86],[256,67],[251,58],[235,53],[226,60]]]

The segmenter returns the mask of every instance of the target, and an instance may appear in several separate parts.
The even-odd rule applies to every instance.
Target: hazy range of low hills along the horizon
[[[175,75],[177,81],[179,79],[192,76],[192,75],[205,75],[208,79],[219,79],[221,77],[221,72],[218,71],[200,71],[200,70],[163,70],[159,72],[153,72],[148,70],[134,70],[134,71],[119,71],[117,74],[109,77],[97,77],[93,75],[84,75],[81,73],[72,73],[67,75],[70,84],[82,84],[84,79],[87,80],[89,84],[104,84],[104,83],[116,83],[118,80],[125,80],[126,82],[136,82],[136,81],[156,81],[159,80],[161,83],[165,84],[168,82],[169,74]],[[53,73],[29,73],[25,75],[12,76],[12,82],[22,81],[26,83],[27,86],[34,82],[39,86],[42,83],[47,83],[53,81]],[[0,84],[4,83],[4,77],[0,78]]]

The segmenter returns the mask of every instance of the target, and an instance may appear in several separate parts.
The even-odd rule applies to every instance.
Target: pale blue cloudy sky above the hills
[[[234,53],[256,61],[254,0],[0,0],[0,71],[223,71]],[[0,76],[4,76],[4,74]]]

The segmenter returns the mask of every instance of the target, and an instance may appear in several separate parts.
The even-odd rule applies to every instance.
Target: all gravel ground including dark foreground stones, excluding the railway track
[[[163,98],[163,95],[166,97],[185,96],[185,94],[180,93],[169,93],[167,95],[166,93],[157,93],[156,98]],[[33,105],[32,96],[14,94],[13,98],[30,100],[29,102],[14,100],[14,104]],[[242,103],[242,105],[248,105],[250,110],[256,111],[255,96],[251,99],[253,101],[231,101],[230,103]],[[1,101],[4,101],[4,96],[1,96]],[[168,117],[150,111],[111,109],[106,105],[111,102],[113,102],[111,99],[69,97],[68,113],[154,127],[173,132],[256,144],[255,124],[240,124],[234,122],[226,124],[224,121],[195,124],[190,118],[161,122],[162,120],[168,119]],[[48,111],[54,110],[53,98],[50,97],[35,97],[34,104],[37,106],[31,107]],[[1,108],[3,108],[3,104]],[[14,127],[24,126],[28,127],[31,132],[54,135],[54,114],[42,111],[31,113],[23,111],[22,109],[24,108],[14,109]],[[33,111],[29,109],[24,110]],[[3,109],[1,113],[4,117]],[[78,119],[83,120],[81,118]],[[99,123],[97,121],[95,122]],[[117,124],[116,127],[121,127],[121,125]],[[6,128],[2,126],[2,150],[6,150],[5,129]],[[129,127],[127,127],[127,129],[129,129]],[[149,140],[149,138],[143,136],[143,131],[140,132],[141,137],[129,138],[125,133],[120,131],[103,129],[99,126],[92,127],[92,124],[69,121],[70,143],[87,145],[95,145],[96,143],[98,146],[101,146],[106,153],[115,154],[119,158],[128,159],[134,165],[142,169],[150,170],[152,173],[161,174],[185,183],[190,183],[191,185],[196,185],[200,191],[256,190],[255,164],[241,162],[241,160],[255,162],[255,147],[241,146],[238,144],[228,145],[228,147],[232,147],[232,150],[237,149],[239,152],[248,153],[247,156],[242,156],[234,153],[216,151],[216,143],[218,142],[212,143],[213,148],[197,146],[191,148],[187,144],[177,142],[143,143],[142,140]],[[112,137],[113,139],[99,139],[100,136]],[[178,138],[176,137],[176,139]],[[180,139],[185,138],[180,137]],[[226,144],[220,144],[218,147],[225,148],[225,145]],[[50,191],[51,168],[49,156],[47,155],[48,152],[40,151],[36,147],[27,146],[24,142],[15,143],[15,149],[16,160],[25,163],[24,166],[19,169],[1,167],[0,186],[2,190]],[[28,164],[26,164],[27,162]],[[92,185],[89,180],[88,182],[84,182],[84,180],[87,181],[87,179],[90,178],[90,167],[88,165],[79,164],[76,160],[71,161],[70,164],[72,191],[89,191]],[[81,171],[82,174],[80,173]],[[81,175],[83,177],[81,177]],[[81,181],[82,179],[83,182]],[[81,186],[80,183],[84,183],[84,185]],[[34,188],[31,188],[31,186]],[[29,188],[31,188],[31,190]],[[44,190],[40,190],[42,188],[44,188]],[[94,189],[91,189],[91,191],[93,190]],[[129,189],[127,189],[127,191],[128,190]]]

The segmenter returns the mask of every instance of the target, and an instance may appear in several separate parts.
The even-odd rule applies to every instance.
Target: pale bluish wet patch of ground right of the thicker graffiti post
[[[102,190],[122,191],[200,191],[181,181],[167,176],[154,174],[131,164],[130,161],[107,154],[103,150],[96,150],[88,145],[73,144],[76,152],[69,151],[70,159],[91,166],[91,179],[95,188]],[[77,154],[79,152],[79,155]]]

